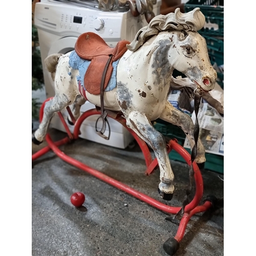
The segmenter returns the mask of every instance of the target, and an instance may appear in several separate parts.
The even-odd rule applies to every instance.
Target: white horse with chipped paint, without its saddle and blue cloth
[[[166,200],[170,200],[174,192],[174,174],[164,137],[151,121],[160,118],[178,125],[188,137],[191,148],[195,145],[193,121],[174,108],[167,101],[167,95],[174,69],[194,81],[199,90],[214,89],[217,73],[210,64],[205,39],[197,32],[204,23],[205,17],[199,8],[185,14],[176,9],[175,13],[154,17],[116,61],[115,87],[104,92],[104,109],[122,112],[126,125],[153,148],[160,168],[159,193]],[[82,79],[81,70],[72,68],[71,63],[74,54],[72,51],[46,58],[47,69],[55,77],[55,96],[46,102],[44,117],[34,133],[33,141],[37,144],[45,139],[55,112],[71,105],[77,119],[80,106],[86,100],[100,106],[100,95],[84,91],[86,98],[81,96],[78,84],[78,79]],[[205,150],[200,139],[197,147],[195,161],[203,163]]]

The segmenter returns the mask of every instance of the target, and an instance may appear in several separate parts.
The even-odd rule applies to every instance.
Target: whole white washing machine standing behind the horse
[[[86,7],[81,3],[83,4],[81,0],[76,2],[41,0],[35,5],[34,25],[38,31],[47,98],[54,96],[54,82],[44,65],[47,56],[53,53],[65,54],[74,50],[78,36],[84,32],[94,32],[110,47],[115,47],[120,40],[132,41],[138,30],[147,25],[144,15],[134,17],[130,10],[106,12],[100,11],[92,2]],[[160,6],[161,0],[157,0],[153,10],[155,15],[160,14]],[[94,105],[86,102],[82,105],[81,112],[92,108]],[[68,115],[66,110],[62,111],[62,114],[65,118]],[[111,127],[110,139],[101,138],[95,131],[97,117],[84,120],[79,137],[119,148],[125,148],[132,142],[132,135],[111,118],[108,118]],[[66,132],[57,114],[51,120],[51,127]],[[73,132],[73,126],[70,126],[70,129]]]

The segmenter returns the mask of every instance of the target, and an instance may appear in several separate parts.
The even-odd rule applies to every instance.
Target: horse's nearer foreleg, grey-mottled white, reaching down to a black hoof
[[[170,167],[163,135],[154,129],[151,121],[144,114],[133,111],[125,117],[127,127],[153,148],[160,168],[159,194],[163,199],[171,200],[174,192],[174,174]]]

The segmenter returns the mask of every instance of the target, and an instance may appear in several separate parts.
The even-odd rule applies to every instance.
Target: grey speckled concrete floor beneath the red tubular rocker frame
[[[50,130],[54,140],[66,136]],[[32,144],[32,154],[44,147]],[[145,176],[145,162],[138,145],[118,148],[78,139],[60,147],[67,155],[118,181],[164,202],[181,206],[188,183],[188,166],[171,161],[175,194],[170,202],[158,196],[159,170]],[[154,154],[152,153],[154,156]],[[223,176],[204,170],[204,198],[223,197]],[[70,202],[81,191],[81,208]],[[204,199],[203,198],[203,199]],[[203,200],[202,199],[202,200]],[[224,255],[224,211],[220,208],[191,218],[177,256]],[[168,214],[108,185],[48,152],[32,163],[32,255],[33,256],[164,256],[163,243],[178,228],[166,221]]]

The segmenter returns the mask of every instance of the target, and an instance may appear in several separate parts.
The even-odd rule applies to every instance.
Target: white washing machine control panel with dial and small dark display
[[[94,32],[106,41],[119,41],[132,40],[136,32],[131,32],[138,31],[144,25],[130,11],[103,12],[96,8],[41,2],[35,6],[35,26],[59,36]]]

